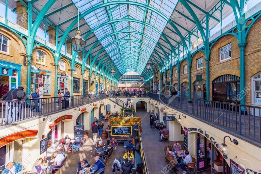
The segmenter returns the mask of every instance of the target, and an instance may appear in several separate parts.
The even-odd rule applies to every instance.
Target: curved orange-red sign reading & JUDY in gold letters
[[[38,130],[28,130],[28,131],[21,131],[21,132],[16,132],[14,134],[7,135],[0,139],[0,147],[19,139],[23,139],[27,137],[35,137],[37,133]]]

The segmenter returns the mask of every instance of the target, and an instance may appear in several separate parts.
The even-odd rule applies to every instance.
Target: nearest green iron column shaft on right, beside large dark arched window
[[[240,104],[245,104],[245,46],[247,43],[238,44],[240,48]],[[241,107],[244,110],[244,107]]]

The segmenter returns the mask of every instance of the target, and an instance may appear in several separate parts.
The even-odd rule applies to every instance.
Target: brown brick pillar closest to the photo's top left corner
[[[26,2],[23,3],[26,4]],[[19,26],[28,29],[28,13],[26,7],[24,7],[20,1],[16,1],[16,23]]]

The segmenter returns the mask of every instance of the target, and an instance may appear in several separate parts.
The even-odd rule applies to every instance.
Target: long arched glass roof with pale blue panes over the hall
[[[83,13],[92,7],[111,1],[117,0],[80,0],[79,11]],[[130,1],[147,4],[163,13],[167,18],[170,18],[177,3],[177,0]],[[73,3],[76,7],[78,6],[78,0],[73,0]],[[85,16],[84,19],[121,74],[130,71],[138,74],[143,72],[167,23],[152,10],[131,4],[101,7]],[[117,19],[117,22],[108,23],[95,30],[104,22]],[[126,21],[126,19],[132,19],[132,21]],[[157,31],[151,26],[155,27]]]

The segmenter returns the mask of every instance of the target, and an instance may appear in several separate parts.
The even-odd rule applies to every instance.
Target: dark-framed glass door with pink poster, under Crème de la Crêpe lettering
[[[202,134],[197,133],[196,135],[197,172],[201,172],[207,168],[207,139]]]

